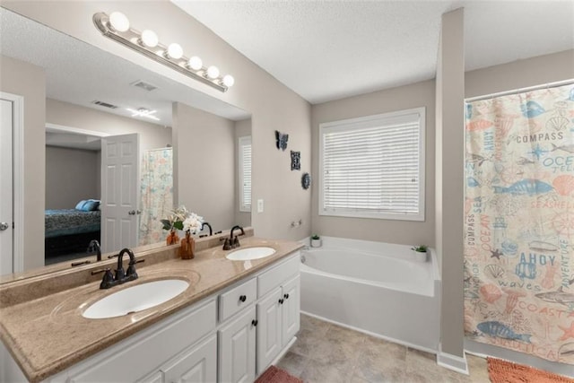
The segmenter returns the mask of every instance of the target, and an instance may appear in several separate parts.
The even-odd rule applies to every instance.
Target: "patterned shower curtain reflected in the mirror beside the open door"
[[[173,209],[173,150],[154,149],[143,153],[139,245],[165,240],[161,218]]]

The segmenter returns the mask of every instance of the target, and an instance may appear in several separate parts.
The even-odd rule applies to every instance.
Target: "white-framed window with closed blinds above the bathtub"
[[[424,221],[425,109],[319,126],[319,215]]]

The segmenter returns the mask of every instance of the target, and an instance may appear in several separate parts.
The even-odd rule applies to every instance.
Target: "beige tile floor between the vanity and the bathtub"
[[[301,315],[298,339],[277,363],[305,383],[490,382],[486,360],[466,355],[470,376],[440,367],[435,355]]]

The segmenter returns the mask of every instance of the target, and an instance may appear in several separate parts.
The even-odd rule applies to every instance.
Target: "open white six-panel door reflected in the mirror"
[[[101,248],[119,251],[137,245],[139,227],[139,135],[101,140]]]

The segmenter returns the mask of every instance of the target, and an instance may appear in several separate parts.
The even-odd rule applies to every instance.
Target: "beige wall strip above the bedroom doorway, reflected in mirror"
[[[140,134],[140,152],[171,144],[171,128],[59,100],[46,100],[46,122],[109,135]]]

